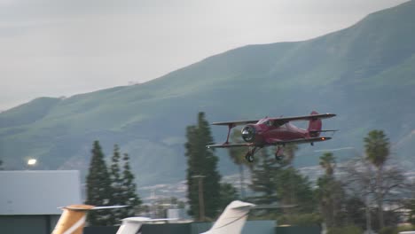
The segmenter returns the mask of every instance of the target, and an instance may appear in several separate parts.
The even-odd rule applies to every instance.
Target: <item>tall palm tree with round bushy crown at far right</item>
[[[380,229],[384,224],[383,218],[383,166],[389,157],[389,139],[382,130],[372,130],[364,137],[364,150],[366,152],[366,159],[369,160],[376,168],[376,191],[375,200],[378,205],[378,219]]]

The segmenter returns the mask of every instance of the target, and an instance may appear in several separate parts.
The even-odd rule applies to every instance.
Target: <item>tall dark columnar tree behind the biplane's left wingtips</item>
[[[191,214],[200,220],[199,191],[203,191],[204,214],[213,219],[218,214],[221,204],[220,180],[221,175],[217,171],[218,158],[214,149],[207,149],[207,144],[213,144],[213,137],[209,124],[205,119],[205,113],[198,114],[196,125],[188,126],[186,129],[187,143],[184,144],[185,156],[187,158],[187,198],[189,199]],[[202,187],[199,187],[199,178],[203,176]]]

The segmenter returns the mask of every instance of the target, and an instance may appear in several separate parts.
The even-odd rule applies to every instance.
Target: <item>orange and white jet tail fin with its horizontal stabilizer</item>
[[[63,209],[58,223],[52,234],[82,234],[83,226],[85,226],[86,213],[90,210],[121,208],[127,206],[112,207],[94,207],[90,205],[72,205],[67,207],[59,207]]]

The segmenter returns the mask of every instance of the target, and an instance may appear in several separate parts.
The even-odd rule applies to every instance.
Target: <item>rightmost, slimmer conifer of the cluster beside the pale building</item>
[[[129,154],[124,153],[122,157],[123,161],[123,170],[121,177],[121,199],[122,205],[129,207],[121,209],[121,219],[133,216],[135,214],[135,209],[137,206],[140,206],[142,201],[137,195],[137,184],[135,181],[135,176],[131,172],[129,166]]]

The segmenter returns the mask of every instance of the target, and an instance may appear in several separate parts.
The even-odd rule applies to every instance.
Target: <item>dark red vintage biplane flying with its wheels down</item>
[[[320,136],[322,132],[334,132],[336,130],[322,130],[321,119],[332,118],[334,113],[311,112],[309,115],[279,118],[264,118],[254,121],[223,121],[214,122],[213,125],[228,126],[228,136],[223,144],[209,144],[207,148],[229,148],[229,147],[248,147],[245,159],[249,162],[254,161],[254,153],[265,146],[277,146],[275,159],[284,159],[284,146],[286,144],[309,143],[330,140],[332,137]],[[291,121],[309,121],[308,129],[300,129]],[[246,143],[231,144],[229,136],[231,129],[238,125],[246,125],[241,133]]]

